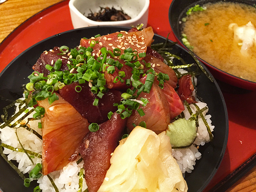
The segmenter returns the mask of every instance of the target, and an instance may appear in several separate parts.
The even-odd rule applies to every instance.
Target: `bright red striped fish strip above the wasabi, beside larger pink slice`
[[[164,84],[164,88],[162,89],[162,92],[165,94],[165,97],[169,103],[170,118],[172,120],[184,110],[184,105],[180,100],[180,97],[174,90],[174,88],[169,84],[167,83]]]

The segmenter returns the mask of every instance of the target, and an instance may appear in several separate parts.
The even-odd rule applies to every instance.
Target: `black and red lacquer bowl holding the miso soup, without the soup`
[[[217,2],[223,2],[223,1],[221,1],[221,0],[172,0],[170,9],[169,9],[169,22],[170,22],[170,26],[172,28],[172,32],[174,33],[174,36],[176,37],[176,40],[182,46],[187,48],[186,45],[184,44],[184,42],[182,41],[182,38],[184,38],[182,36],[183,22],[184,22],[184,18],[186,17],[186,12],[190,8],[194,7],[195,5],[204,6],[207,3],[217,3]],[[255,5],[254,0],[226,0],[224,2],[236,2],[236,3],[247,4],[250,6]],[[182,21],[182,19],[183,19],[183,21]],[[204,25],[206,25],[206,24],[204,24]],[[203,60],[197,54],[195,54],[195,55],[208,67],[208,69],[210,70],[212,75],[215,78],[217,78],[218,80],[220,80],[222,82],[226,82],[228,84],[231,84],[232,86],[236,86],[239,88],[244,88],[247,90],[256,90],[256,82],[246,80],[244,78],[240,78],[238,76],[235,76],[228,72],[220,70],[219,68],[213,66],[211,63],[206,62],[205,61],[206,59]]]

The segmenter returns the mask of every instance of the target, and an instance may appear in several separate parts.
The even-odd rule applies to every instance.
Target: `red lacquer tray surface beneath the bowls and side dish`
[[[171,0],[169,2],[151,0],[148,26],[152,26],[154,32],[161,36],[167,36],[170,33],[168,38],[175,41],[168,21],[170,4]],[[36,14],[16,28],[0,44],[0,72],[33,44],[72,29],[68,0]],[[242,172],[247,170],[256,160],[254,155],[256,153],[256,118],[254,117],[256,91],[242,90],[222,82],[218,84],[228,108],[228,145],[222,163],[205,191],[220,190],[222,186],[230,186],[241,175],[241,170]]]

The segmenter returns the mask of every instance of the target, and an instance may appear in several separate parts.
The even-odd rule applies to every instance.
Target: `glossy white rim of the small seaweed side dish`
[[[74,6],[74,2],[76,0],[70,0],[70,2],[68,3],[68,6],[70,7],[70,9],[73,10],[73,12],[76,12],[77,15],[85,20],[86,22],[90,23],[90,24],[93,24],[93,25],[123,25],[123,24],[129,24],[129,23],[133,23],[133,22],[136,22],[137,20],[139,20],[143,14],[148,10],[148,7],[149,7],[149,2],[150,0],[145,0],[145,5],[144,7],[142,8],[142,10],[140,11],[140,13],[130,19],[130,20],[125,20],[125,21],[102,21],[102,22],[98,22],[98,21],[93,21],[93,20],[90,20],[88,19],[86,16],[84,16],[75,6]]]

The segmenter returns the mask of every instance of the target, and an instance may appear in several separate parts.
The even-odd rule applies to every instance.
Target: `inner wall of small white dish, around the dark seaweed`
[[[147,0],[76,0],[74,1],[75,8],[88,16],[91,12],[99,12],[100,7],[112,8],[117,10],[123,10],[125,14],[128,14],[132,19],[136,18],[143,10]]]

